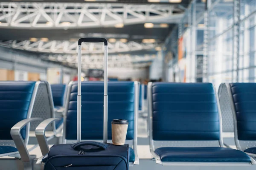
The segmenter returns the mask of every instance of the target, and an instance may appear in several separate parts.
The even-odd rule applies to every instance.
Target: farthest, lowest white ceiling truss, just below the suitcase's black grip
[[[81,63],[83,69],[89,68],[103,68],[103,55],[82,55]],[[146,67],[151,64],[155,55],[109,55],[108,56],[108,67]],[[77,55],[72,54],[49,54],[41,56],[42,59],[61,62],[64,65],[77,67]]]

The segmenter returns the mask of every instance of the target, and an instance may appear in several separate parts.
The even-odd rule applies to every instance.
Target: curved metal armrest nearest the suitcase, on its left
[[[39,147],[40,147],[40,150],[41,150],[41,153],[43,156],[49,152],[48,142],[47,142],[46,136],[44,134],[45,129],[52,122],[54,122],[56,120],[60,120],[60,119],[61,119],[61,117],[46,119],[43,122],[41,122],[38,125],[38,127],[36,127],[36,129],[35,129],[35,136],[36,136],[36,139],[38,141],[38,144],[39,144]]]

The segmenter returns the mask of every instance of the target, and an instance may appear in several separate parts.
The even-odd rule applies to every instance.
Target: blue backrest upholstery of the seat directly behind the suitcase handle
[[[103,82],[81,83],[81,138],[103,139]],[[67,110],[66,139],[76,139],[77,82],[73,82]],[[108,82],[108,139],[111,121],[127,119],[126,139],[134,139],[134,82]]]

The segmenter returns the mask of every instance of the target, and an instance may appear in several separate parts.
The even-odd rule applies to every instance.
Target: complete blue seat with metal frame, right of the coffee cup
[[[221,113],[211,83],[148,86],[150,148],[157,164],[255,164],[246,153],[223,147]]]

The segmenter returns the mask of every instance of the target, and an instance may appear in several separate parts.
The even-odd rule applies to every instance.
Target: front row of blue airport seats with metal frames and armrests
[[[38,118],[35,118],[38,115],[33,115],[33,118],[30,118],[32,117],[31,113],[33,114],[31,109],[34,110],[30,106],[35,107],[37,105],[34,99],[36,96],[34,94],[35,87],[42,84],[42,82],[39,82],[36,86],[37,83],[0,83],[0,99],[3,100],[3,102],[1,101],[0,111],[4,118],[0,125],[0,133],[2,133],[0,144],[4,145],[0,146],[0,149],[6,149],[9,153],[11,150],[12,154],[14,152],[17,154],[18,150],[23,162],[30,161],[28,156],[24,156],[24,150],[26,151],[25,155],[28,155],[24,146],[28,141],[26,138],[29,125],[26,128],[23,127],[30,121],[38,121]],[[47,82],[43,83],[48,84]],[[112,119],[127,119],[129,121],[127,143],[131,146],[131,164],[139,164],[137,156],[137,119],[139,96],[143,96],[139,95],[142,94],[139,91],[143,91],[143,88],[140,87],[141,85],[139,86],[138,82],[108,83],[108,121],[111,122]],[[254,141],[256,128],[253,125],[254,107],[256,107],[254,104],[256,93],[253,90],[256,89],[256,83],[233,83],[225,87],[228,94],[226,97],[229,99],[233,111],[235,139],[239,150],[224,147],[219,100],[221,101],[221,98],[225,95],[220,96],[222,93],[219,93],[218,99],[211,83],[150,82],[148,84],[150,151],[157,164],[205,165],[206,162],[207,165],[256,164],[255,160],[250,157],[255,156],[254,152],[256,150],[254,145],[256,143]],[[101,141],[103,139],[103,82],[82,82],[81,93],[81,138],[82,140]],[[62,143],[76,142],[76,96],[77,82],[70,82],[65,97]],[[8,103],[9,100],[13,100],[13,102]],[[39,103],[42,103],[44,99],[38,100]],[[11,125],[14,123],[14,120],[11,121],[11,117],[17,117],[15,121],[19,122],[21,120],[21,123]],[[42,161],[47,160],[49,151],[44,132],[49,125],[55,127],[54,122],[61,121],[61,118],[55,118],[55,116],[47,118],[49,119],[44,118],[43,122],[41,119],[40,125],[35,130],[41,152],[44,155],[41,158]],[[11,136],[8,135],[10,129]],[[7,136],[7,138],[3,138],[4,136]],[[14,142],[11,141],[12,139]],[[111,142],[111,124],[108,127],[108,139]],[[6,140],[9,140],[12,144],[6,145],[4,143]],[[20,144],[23,144],[23,147]]]

